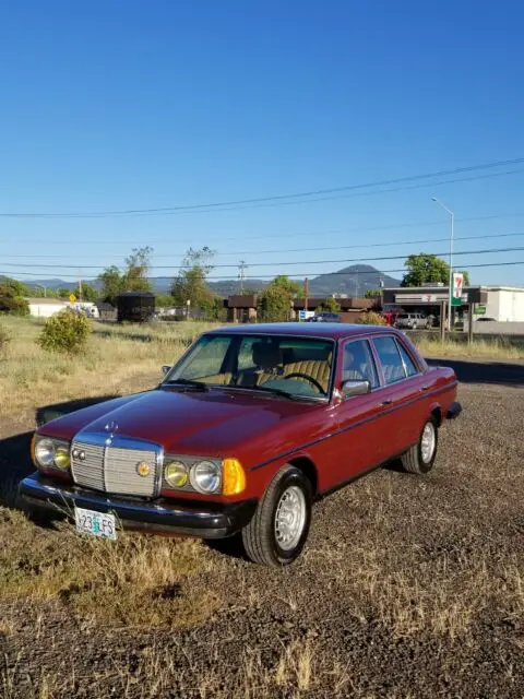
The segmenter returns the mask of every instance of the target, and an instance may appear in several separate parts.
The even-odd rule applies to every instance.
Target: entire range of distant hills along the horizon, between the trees
[[[309,281],[310,296],[331,296],[333,294],[347,294],[347,296],[364,296],[368,289],[380,288],[380,282],[384,286],[400,286],[400,280],[383,274],[370,264],[352,264],[338,270],[336,274],[320,274]],[[84,280],[86,284],[99,287],[97,280]],[[44,285],[47,288],[76,288],[78,282],[64,282],[60,279],[52,280],[24,280],[27,286]],[[172,284],[172,277],[160,276],[153,281],[153,289],[167,294]],[[210,282],[211,289],[219,296],[231,296],[240,292],[240,282],[238,280],[223,280],[221,282]],[[267,286],[267,282],[257,279],[247,279],[243,287],[250,292],[261,292]],[[38,289],[35,288],[35,292]]]

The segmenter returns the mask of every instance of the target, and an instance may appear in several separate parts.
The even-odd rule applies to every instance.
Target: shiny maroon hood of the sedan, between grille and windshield
[[[269,430],[287,431],[321,407],[325,404],[248,391],[159,388],[83,408],[39,431],[72,440],[79,431],[110,430],[160,443],[170,453],[226,457],[246,443],[252,446]]]

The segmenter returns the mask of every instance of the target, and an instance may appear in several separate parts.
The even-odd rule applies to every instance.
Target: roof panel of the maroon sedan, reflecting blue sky
[[[247,323],[226,325],[210,330],[205,334],[241,334],[241,335],[295,335],[301,337],[319,337],[319,340],[341,340],[354,335],[373,335],[377,333],[400,335],[390,325],[362,325],[356,323]]]

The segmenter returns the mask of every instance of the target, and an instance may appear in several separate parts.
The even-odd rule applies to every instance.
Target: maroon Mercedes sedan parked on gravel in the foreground
[[[430,471],[456,391],[451,368],[429,367],[392,328],[213,330],[156,388],[41,425],[20,491],[79,532],[240,532],[253,561],[282,566],[299,556],[314,500],[394,458]]]

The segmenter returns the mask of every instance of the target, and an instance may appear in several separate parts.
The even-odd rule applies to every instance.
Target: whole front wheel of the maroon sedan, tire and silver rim
[[[242,530],[249,558],[273,567],[296,560],[308,537],[312,499],[311,483],[303,473],[295,466],[283,466]]]

